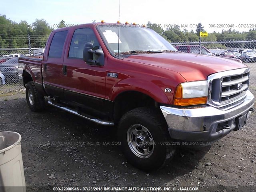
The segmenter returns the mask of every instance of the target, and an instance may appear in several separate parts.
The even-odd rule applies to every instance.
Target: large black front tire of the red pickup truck
[[[161,168],[170,162],[171,158],[174,156],[176,146],[171,145],[172,143],[168,133],[167,124],[164,121],[163,116],[160,116],[160,114],[156,113],[153,109],[145,107],[135,108],[122,116],[118,124],[118,138],[121,141],[121,148],[124,156],[133,166],[145,171],[152,171]],[[150,155],[144,158],[139,157],[140,154],[138,154],[138,151],[140,152],[141,148],[137,147],[138,150],[135,150],[136,152],[134,152],[134,149],[130,147],[130,142],[128,142],[128,140],[130,140],[130,137],[128,136],[130,135],[129,130],[133,130],[134,126],[138,125],[142,126],[142,129],[146,128],[146,130],[149,131],[147,137],[150,138],[151,136],[153,139],[152,143],[154,144],[153,147],[150,146]],[[135,129],[140,130],[139,126]],[[137,136],[134,138],[135,134],[131,134],[131,140],[136,140],[138,134],[136,135]],[[140,143],[146,143],[146,140]],[[150,151],[150,147],[148,148],[148,151]],[[147,154],[148,151],[145,154]]]

